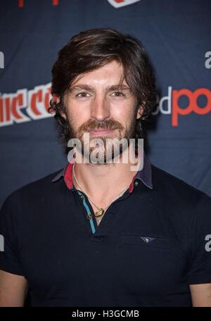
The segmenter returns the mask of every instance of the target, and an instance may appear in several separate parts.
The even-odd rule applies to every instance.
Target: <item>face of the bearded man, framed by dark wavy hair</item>
[[[83,150],[91,153],[103,149],[103,162],[106,163],[106,139],[135,137],[136,118],[141,116],[142,109],[136,112],[135,96],[125,80],[120,84],[123,77],[122,64],[112,61],[76,79],[65,94],[65,112],[61,115],[68,120],[70,139],[80,139],[82,155]],[[90,147],[84,144],[84,133],[89,133],[89,142],[100,138],[103,145]]]

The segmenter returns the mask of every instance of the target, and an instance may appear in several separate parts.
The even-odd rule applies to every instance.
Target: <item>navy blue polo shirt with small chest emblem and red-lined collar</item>
[[[144,155],[99,225],[72,163],[10,194],[0,269],[24,275],[32,306],[191,306],[211,283],[211,198]]]

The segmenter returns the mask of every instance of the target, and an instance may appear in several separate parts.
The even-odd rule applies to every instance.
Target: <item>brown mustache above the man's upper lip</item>
[[[120,122],[116,120],[103,120],[98,122],[97,120],[89,120],[79,127],[79,132],[90,132],[92,130],[124,130],[124,127]]]

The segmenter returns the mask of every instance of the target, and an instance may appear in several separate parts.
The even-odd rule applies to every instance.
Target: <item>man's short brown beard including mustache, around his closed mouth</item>
[[[98,122],[97,120],[88,120],[75,128],[68,114],[66,113],[66,128],[68,128],[68,141],[70,139],[79,139],[81,147],[76,144],[76,152],[79,152],[88,163],[97,165],[106,165],[120,159],[122,153],[129,147],[130,139],[136,138],[136,118],[133,117],[129,125],[125,127],[117,120],[109,119]],[[116,130],[116,134],[94,135],[89,132],[93,130]],[[84,139],[84,134],[88,134],[88,139]],[[121,144],[123,141],[123,144]]]

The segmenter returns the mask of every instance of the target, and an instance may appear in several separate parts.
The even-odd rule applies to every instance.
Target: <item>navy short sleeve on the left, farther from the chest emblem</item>
[[[4,201],[0,210],[0,270],[23,275],[18,257],[18,200],[15,192]]]

